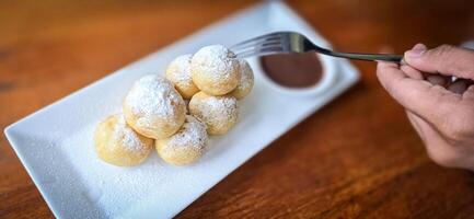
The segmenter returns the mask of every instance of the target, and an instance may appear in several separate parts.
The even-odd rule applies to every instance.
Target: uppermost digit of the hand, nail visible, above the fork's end
[[[424,72],[474,79],[474,50],[471,49],[450,45],[427,49],[417,44],[405,53],[404,61]]]

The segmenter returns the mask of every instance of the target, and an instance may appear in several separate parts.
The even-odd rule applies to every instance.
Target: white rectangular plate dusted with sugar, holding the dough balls
[[[354,84],[358,72],[337,61],[337,79],[320,95],[288,95],[264,80],[255,60],[255,87],[241,103],[239,124],[212,137],[196,164],[176,168],[153,153],[124,169],[100,161],[92,134],[97,122],[120,112],[131,83],[162,73],[176,56],[210,44],[233,45],[271,31],[298,31],[327,46],[317,33],[280,2],[263,3],[211,25],[16,122],[8,139],[58,218],[169,218],[221,181],[273,140]]]

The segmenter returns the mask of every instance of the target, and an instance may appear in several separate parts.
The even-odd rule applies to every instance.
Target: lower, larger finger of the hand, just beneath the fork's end
[[[377,76],[400,104],[437,127],[446,126],[454,104],[462,99],[442,87],[407,77],[397,65],[379,62]]]

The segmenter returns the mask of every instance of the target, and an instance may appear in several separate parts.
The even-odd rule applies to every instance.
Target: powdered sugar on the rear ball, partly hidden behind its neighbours
[[[176,57],[171,61],[166,70],[166,77],[170,77],[174,83],[178,83],[180,85],[190,85],[193,83],[193,79],[190,78],[192,57],[193,55],[190,54]]]

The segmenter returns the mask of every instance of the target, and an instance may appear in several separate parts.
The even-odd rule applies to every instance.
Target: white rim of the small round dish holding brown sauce
[[[262,62],[259,58],[254,58],[251,60],[251,62],[256,64],[252,65],[252,67],[256,67],[257,71],[262,72],[263,78],[265,81],[275,90],[278,90],[281,93],[292,94],[292,95],[317,95],[323,91],[326,91],[328,88],[331,88],[332,84],[334,84],[336,74],[337,74],[337,66],[334,58],[315,54],[321,61],[322,67],[322,77],[321,79],[313,85],[304,87],[304,88],[290,88],[280,85],[274,80],[271,80],[267,73],[265,72],[265,69],[262,67]],[[291,72],[288,72],[291,73]]]

